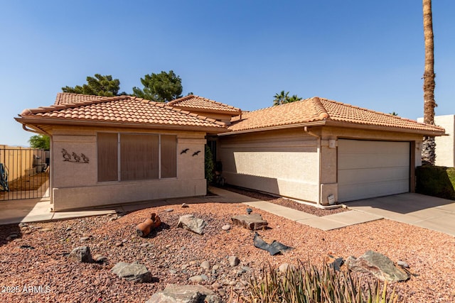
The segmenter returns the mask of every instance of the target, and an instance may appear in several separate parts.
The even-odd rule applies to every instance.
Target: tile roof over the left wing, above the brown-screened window
[[[220,128],[225,123],[205,116],[132,96],[98,97],[59,93],[53,106],[24,109],[21,118],[62,121],[134,123],[158,126],[197,126]]]

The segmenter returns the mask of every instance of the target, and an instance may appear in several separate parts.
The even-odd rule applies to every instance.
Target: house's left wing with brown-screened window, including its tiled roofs
[[[191,106],[207,116],[185,110]],[[16,121],[50,136],[50,202],[63,211],[205,195],[205,138],[228,131],[217,119],[237,114],[197,96],[168,106],[60,93],[52,106],[26,109]]]

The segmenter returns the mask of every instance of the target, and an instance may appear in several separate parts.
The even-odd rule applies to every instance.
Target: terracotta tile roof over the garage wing
[[[346,126],[363,125],[383,128],[401,128],[408,131],[444,133],[444,128],[431,126],[399,116],[362,109],[358,106],[343,104],[337,101],[313,97],[289,104],[272,106],[266,109],[242,113],[239,121],[228,127],[230,131],[246,131],[260,128],[292,126],[302,123],[331,122],[343,123]]]

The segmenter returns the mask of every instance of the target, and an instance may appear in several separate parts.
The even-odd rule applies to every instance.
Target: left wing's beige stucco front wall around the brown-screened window
[[[177,136],[177,177],[162,180],[97,182],[97,132],[161,133]],[[52,202],[54,211],[87,206],[125,204],[151,199],[204,195],[205,133],[163,130],[137,131],[122,128],[54,128],[52,131]],[[181,150],[188,148],[187,153]],[[83,153],[88,162],[74,158],[65,161],[62,150],[70,155]],[[200,150],[198,155],[193,153]]]

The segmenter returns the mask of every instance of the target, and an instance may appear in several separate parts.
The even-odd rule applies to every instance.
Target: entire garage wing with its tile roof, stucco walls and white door
[[[330,204],[414,192],[422,136],[444,128],[314,97],[242,113],[218,134],[229,184]]]

